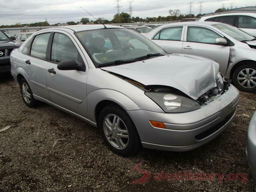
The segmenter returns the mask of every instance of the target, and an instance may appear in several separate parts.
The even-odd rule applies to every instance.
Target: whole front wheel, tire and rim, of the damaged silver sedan
[[[141,142],[136,127],[120,106],[110,104],[103,108],[98,125],[104,142],[116,154],[130,156],[140,150]]]

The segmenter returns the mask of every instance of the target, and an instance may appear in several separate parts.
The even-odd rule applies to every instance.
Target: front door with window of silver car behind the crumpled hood
[[[197,55],[210,58],[220,64],[220,72],[226,73],[230,55],[230,47],[216,45],[216,38],[221,34],[204,26],[186,26],[182,54]]]

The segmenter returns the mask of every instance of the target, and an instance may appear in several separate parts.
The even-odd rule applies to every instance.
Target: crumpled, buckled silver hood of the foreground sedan
[[[146,86],[170,86],[197,100],[216,86],[219,64],[203,57],[170,54],[101,69],[136,80]]]

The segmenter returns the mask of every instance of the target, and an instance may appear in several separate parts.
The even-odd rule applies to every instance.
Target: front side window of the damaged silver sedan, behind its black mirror
[[[52,41],[51,61],[61,62],[66,60],[74,60],[78,63],[81,62],[82,58],[68,36],[55,33]]]

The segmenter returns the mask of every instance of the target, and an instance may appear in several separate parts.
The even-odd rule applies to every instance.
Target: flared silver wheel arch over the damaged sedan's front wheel
[[[93,122],[96,122],[94,116],[96,105],[103,100],[115,102],[126,111],[140,110],[139,106],[125,94],[112,89],[98,89],[87,96],[88,116]]]

